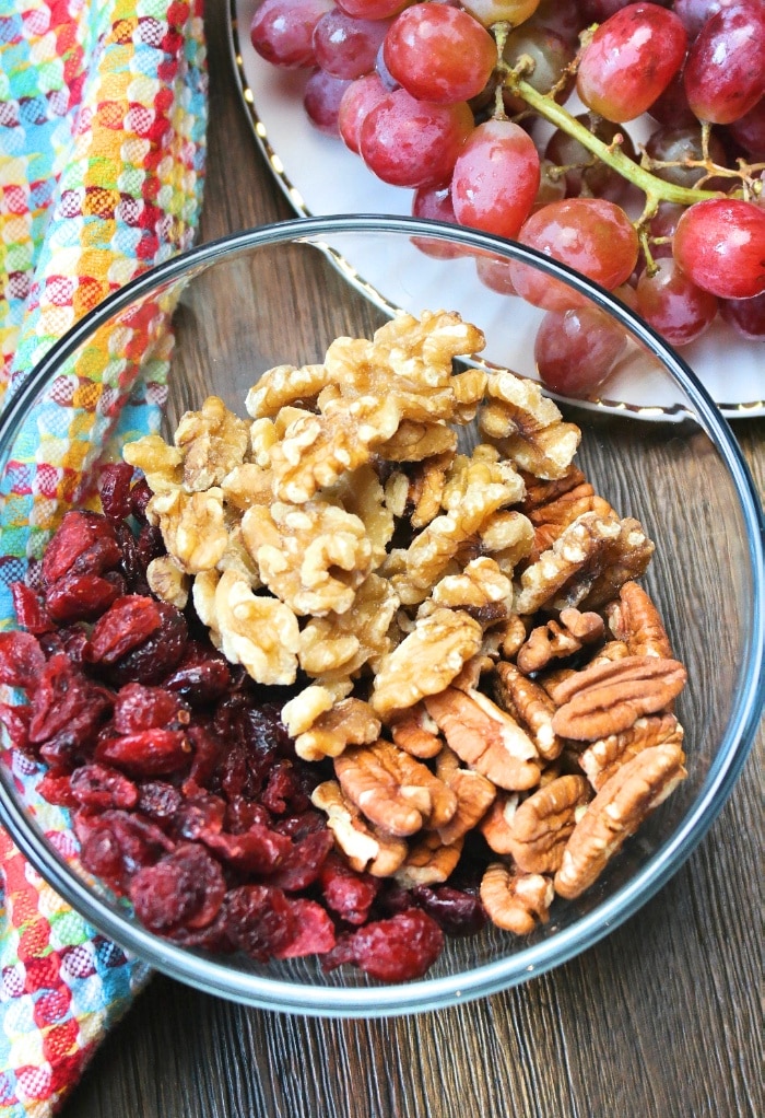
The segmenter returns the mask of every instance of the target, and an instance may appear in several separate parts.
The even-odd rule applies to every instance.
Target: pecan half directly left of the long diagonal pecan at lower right
[[[560,776],[538,788],[513,816],[509,852],[527,873],[555,873],[592,792],[583,776]]]

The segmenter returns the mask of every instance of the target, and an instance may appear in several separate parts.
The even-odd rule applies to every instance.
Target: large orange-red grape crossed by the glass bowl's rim
[[[528,218],[518,240],[575,268],[609,290],[629,280],[638,260],[638,234],[624,210],[601,198],[565,198]],[[536,306],[565,310],[584,296],[519,262],[511,266],[519,295]]]

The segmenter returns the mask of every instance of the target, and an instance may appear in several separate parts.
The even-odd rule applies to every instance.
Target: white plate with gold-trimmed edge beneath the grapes
[[[310,124],[303,108],[307,73],[281,70],[255,51],[249,27],[256,8],[257,0],[229,0],[231,47],[256,140],[293,208],[303,217],[410,214],[410,190],[381,182],[340,140],[324,135]],[[637,126],[630,124],[634,139],[644,139],[641,126],[644,127],[641,122],[637,122]],[[372,260],[364,255],[363,266],[358,264],[361,257],[354,259],[347,248],[344,248],[343,255],[350,263],[350,278],[356,278],[355,266],[360,266],[364,281],[374,292],[381,293],[383,302],[407,310],[422,310],[413,307],[411,300],[408,301],[407,284],[402,277],[411,275],[412,268],[417,269],[418,288],[423,299],[429,269],[432,269],[434,278],[438,268],[417,249],[411,250],[411,258],[386,262]],[[463,263],[468,266],[468,262]],[[466,276],[466,286],[471,285],[472,274],[469,281]],[[436,292],[433,299],[437,303]],[[462,310],[463,313],[469,312],[469,307],[462,306]],[[500,315],[501,310],[501,296],[484,292],[480,314],[476,313],[472,318],[490,334],[490,320],[494,314]],[[486,357],[537,379],[535,370],[529,368],[529,354],[539,314],[534,307],[528,307],[526,321],[517,323],[523,326],[517,331],[517,352],[487,353]],[[686,347],[681,353],[725,415],[731,418],[765,415],[765,353],[758,343],[747,342],[725,323],[716,321],[702,338]],[[639,394],[635,395],[637,379],[630,372],[628,368],[623,376],[618,373],[609,381],[609,395],[613,394],[612,398],[620,400],[620,407],[627,404],[628,407],[654,414],[672,411],[677,407],[677,400],[661,395],[657,381],[652,388],[650,377],[640,378]],[[605,400],[601,406],[610,409]]]

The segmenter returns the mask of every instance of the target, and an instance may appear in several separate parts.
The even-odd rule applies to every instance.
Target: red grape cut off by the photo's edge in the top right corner
[[[701,28],[683,72],[688,104],[700,121],[729,124],[765,96],[765,4],[739,0]]]

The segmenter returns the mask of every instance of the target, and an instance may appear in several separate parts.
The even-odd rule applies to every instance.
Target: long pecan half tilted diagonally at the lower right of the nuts
[[[574,827],[555,874],[555,891],[573,900],[600,877],[609,860],[688,775],[679,745],[643,749],[605,781]]]

